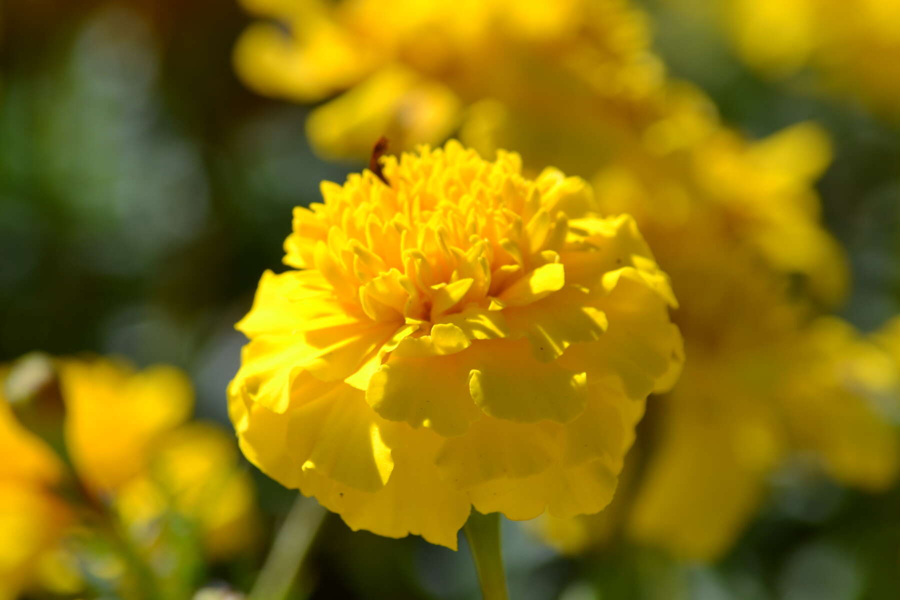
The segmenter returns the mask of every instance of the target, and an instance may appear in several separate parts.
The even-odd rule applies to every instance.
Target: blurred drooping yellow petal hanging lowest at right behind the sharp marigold
[[[692,392],[701,390],[686,390]],[[737,393],[655,401],[671,409],[662,415],[662,437],[637,488],[627,533],[682,559],[716,560],[752,518],[778,456],[770,407]]]

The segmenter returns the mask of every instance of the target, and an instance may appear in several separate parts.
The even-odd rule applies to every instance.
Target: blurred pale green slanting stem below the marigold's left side
[[[326,515],[328,511],[315,500],[297,495],[247,600],[287,597]]]

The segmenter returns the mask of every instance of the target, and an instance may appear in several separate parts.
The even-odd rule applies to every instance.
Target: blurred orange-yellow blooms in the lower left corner
[[[58,389],[55,381],[44,383],[34,399],[21,400],[21,410],[28,412],[27,404],[42,396],[60,397],[65,416],[48,416],[42,406],[33,407],[32,416],[39,423],[62,419],[58,442],[73,472],[0,396],[0,452],[7,457],[0,466],[0,598],[16,597],[24,587],[77,591],[82,584],[72,557],[79,546],[70,537],[104,535],[107,530],[94,527],[113,515],[108,531],[121,528],[124,543],[139,553],[153,550],[158,522],[170,513],[197,524],[214,557],[253,541],[249,475],[238,470],[228,434],[184,424],[193,390],[183,372],[168,366],[135,371],[106,359],[58,359],[52,370]],[[5,372],[0,375],[8,382]]]

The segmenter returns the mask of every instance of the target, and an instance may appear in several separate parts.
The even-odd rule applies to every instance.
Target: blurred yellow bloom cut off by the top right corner
[[[751,67],[769,76],[813,67],[826,87],[900,116],[896,0],[729,0],[716,6]]]

